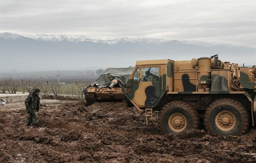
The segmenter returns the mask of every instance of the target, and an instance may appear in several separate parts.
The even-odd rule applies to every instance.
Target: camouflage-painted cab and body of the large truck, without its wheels
[[[168,69],[169,63],[172,67]],[[155,80],[145,82],[143,69],[150,67],[158,68],[158,80],[156,76]],[[168,76],[168,70],[172,71],[172,76]],[[139,111],[146,108],[160,110],[172,100],[186,100],[197,110],[205,110],[214,99],[230,97],[239,101],[245,99],[242,102],[253,112],[253,100],[248,100],[245,95],[249,93],[251,99],[255,97],[256,82],[252,72],[256,73],[256,68],[252,71],[248,67],[238,67],[236,63],[224,63],[215,56],[182,61],[137,61],[122,90]]]

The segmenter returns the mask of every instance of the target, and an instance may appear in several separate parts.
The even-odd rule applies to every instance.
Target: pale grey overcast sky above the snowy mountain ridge
[[[256,1],[5,1],[0,32],[163,38],[256,48]]]

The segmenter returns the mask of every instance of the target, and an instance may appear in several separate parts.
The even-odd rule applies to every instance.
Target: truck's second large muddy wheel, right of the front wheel
[[[204,127],[207,132],[244,135],[249,129],[249,113],[241,102],[233,99],[215,100],[206,109]]]

